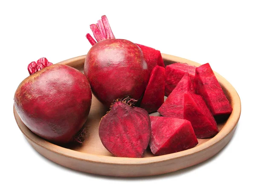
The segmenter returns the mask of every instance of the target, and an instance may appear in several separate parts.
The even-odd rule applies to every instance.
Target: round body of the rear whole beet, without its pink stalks
[[[131,41],[101,40],[89,50],[84,63],[93,94],[106,106],[130,95],[140,99],[149,79],[142,50]]]

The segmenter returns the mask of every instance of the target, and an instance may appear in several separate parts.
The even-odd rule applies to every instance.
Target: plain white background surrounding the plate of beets
[[[168,3],[167,3],[168,2]],[[255,1],[1,1],[0,192],[255,192]],[[233,139],[197,166],[125,179],[79,173],[30,147],[12,112],[27,65],[52,63],[90,49],[89,25],[106,14],[114,35],[212,69],[235,87],[242,112]],[[15,191],[16,190],[16,191]]]

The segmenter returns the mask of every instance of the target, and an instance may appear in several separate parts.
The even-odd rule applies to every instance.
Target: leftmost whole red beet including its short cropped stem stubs
[[[47,64],[46,59],[41,59]],[[65,65],[29,64],[29,73],[41,69],[18,86],[14,102],[23,123],[35,134],[54,143],[70,141],[90,111],[90,84],[79,70]]]

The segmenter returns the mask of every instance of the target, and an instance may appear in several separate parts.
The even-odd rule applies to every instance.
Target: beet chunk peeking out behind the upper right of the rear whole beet
[[[161,52],[159,50],[156,50],[156,49],[148,47],[148,46],[143,46],[138,43],[136,43],[136,44],[137,44],[137,46],[140,47],[140,49],[143,52],[144,58],[145,58],[146,62],[148,63],[149,72],[151,72],[152,69],[157,65],[165,68],[165,65],[163,63],[163,58],[162,58]]]

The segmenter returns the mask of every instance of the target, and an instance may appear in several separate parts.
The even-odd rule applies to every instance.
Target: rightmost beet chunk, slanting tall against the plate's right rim
[[[196,92],[204,98],[204,101],[215,118],[221,115],[231,114],[233,109],[209,63],[196,68],[194,87]]]

